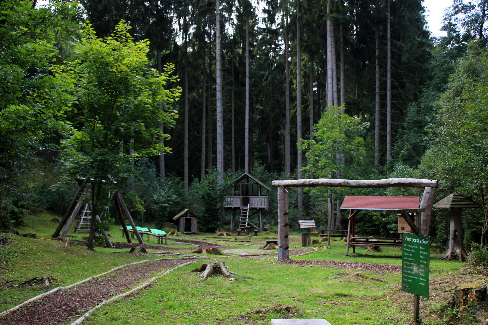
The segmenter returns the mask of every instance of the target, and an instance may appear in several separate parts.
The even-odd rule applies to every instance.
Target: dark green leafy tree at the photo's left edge
[[[15,198],[27,191],[32,166],[65,128],[65,95],[49,76],[56,34],[72,26],[76,6],[0,2],[0,229],[9,227]],[[55,140],[55,139],[54,139]],[[14,213],[19,216],[19,213]]]

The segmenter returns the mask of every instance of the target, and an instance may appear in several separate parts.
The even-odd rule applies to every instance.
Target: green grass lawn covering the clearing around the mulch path
[[[51,221],[52,218],[53,215],[49,213],[29,216],[25,220],[27,226],[18,230],[20,233],[35,232],[38,238],[50,238],[58,226],[57,222]],[[125,241],[117,225],[112,225],[109,233],[113,242]],[[69,234],[73,232],[70,230]],[[71,239],[81,239],[86,234],[80,232],[75,234],[77,237]],[[103,248],[89,251],[77,245],[64,248],[64,244],[56,240],[9,236],[11,244],[6,247],[0,246],[1,310],[16,306],[47,291],[39,287],[15,287],[19,281],[50,274],[59,279],[54,287],[66,286],[116,266],[147,259],[129,256],[122,250],[119,253]],[[178,238],[219,242],[228,245],[229,249],[257,249],[265,240],[276,238],[276,234],[216,237],[215,234],[198,233]],[[147,244],[156,243],[154,238],[149,242],[146,239],[147,237],[144,237]],[[168,246],[183,247],[186,252],[196,249],[193,245],[176,245],[170,239]],[[398,248],[382,248],[379,252],[365,252],[364,249],[356,248],[356,254],[344,257],[345,242],[332,241],[331,246],[327,248],[324,248],[325,245],[326,242],[321,242],[312,245],[312,248],[301,248],[299,233],[292,233],[290,258],[304,261],[336,260],[393,265],[401,265],[402,261]],[[293,256],[305,250],[310,250],[310,253]],[[421,300],[421,309],[427,311],[424,313],[424,324],[446,323],[436,320],[435,317],[446,308],[444,300],[452,289],[452,284],[446,283],[445,280],[467,277],[460,271],[464,263],[440,261],[440,256],[440,252],[431,249],[431,298]],[[399,272],[363,272],[371,278],[386,281],[378,282],[353,276],[353,270],[283,264],[277,261],[276,251],[272,251],[270,256],[211,256],[208,260],[225,261],[229,270],[238,273],[239,276],[236,276],[234,281],[228,281],[219,275],[201,281],[197,278],[198,273],[190,272],[205,260],[197,261],[168,273],[148,289],[103,306],[83,324],[264,325],[269,324],[272,318],[287,317],[325,318],[331,324],[344,325],[413,324],[413,296],[401,292]],[[184,262],[182,261],[182,264]],[[481,280],[486,281],[486,277]],[[249,314],[252,310],[264,309],[277,303],[297,306],[300,311],[294,315],[276,312],[263,315]]]

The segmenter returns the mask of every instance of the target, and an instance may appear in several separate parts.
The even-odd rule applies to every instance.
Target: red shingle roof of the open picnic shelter
[[[419,196],[356,196],[346,195],[341,209],[354,210],[387,210],[416,209],[419,207]]]

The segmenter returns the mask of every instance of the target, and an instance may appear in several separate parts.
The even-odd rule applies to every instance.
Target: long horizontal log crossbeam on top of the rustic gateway
[[[417,187],[417,188],[437,188],[437,179],[420,179],[420,178],[386,178],[386,179],[333,179],[333,178],[316,178],[316,179],[294,179],[294,180],[275,180],[272,186],[279,187],[351,187],[361,189],[375,189],[386,187]]]

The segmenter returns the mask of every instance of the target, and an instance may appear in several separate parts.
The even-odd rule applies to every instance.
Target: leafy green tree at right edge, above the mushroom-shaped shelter
[[[420,165],[437,172],[453,189],[478,196],[483,205],[481,244],[488,234],[488,50],[468,45],[437,102],[436,122],[428,128],[431,146]]]

